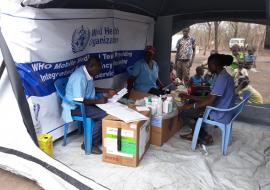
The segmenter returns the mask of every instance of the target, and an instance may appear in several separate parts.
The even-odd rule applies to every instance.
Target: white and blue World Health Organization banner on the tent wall
[[[116,10],[35,9],[4,0],[1,30],[21,76],[37,133],[62,135],[54,82],[91,56],[102,60],[99,87],[121,88],[127,68],[153,43],[152,18]]]

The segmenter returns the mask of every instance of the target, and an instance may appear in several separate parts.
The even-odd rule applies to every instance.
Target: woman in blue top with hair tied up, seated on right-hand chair
[[[230,66],[232,61],[233,57],[230,55],[214,54],[208,58],[209,71],[217,75],[215,84],[213,85],[211,93],[206,97],[190,96],[186,94],[179,95],[183,99],[189,99],[195,102],[194,104],[185,104],[180,108],[184,122],[186,118],[197,119],[202,116],[206,106],[228,109],[235,105],[234,80],[224,68],[224,66]],[[227,123],[230,121],[231,117],[223,112],[212,111],[210,113],[210,119]],[[194,125],[192,127],[194,130]],[[181,135],[181,137],[192,140],[192,135],[193,131],[190,134]],[[199,141],[203,144],[211,144],[213,143],[213,138],[202,128],[199,134]]]

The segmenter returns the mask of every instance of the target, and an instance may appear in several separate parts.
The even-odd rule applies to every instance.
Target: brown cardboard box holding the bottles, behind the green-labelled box
[[[148,96],[151,94],[132,90],[129,98],[138,100]],[[182,121],[178,117],[177,110],[163,116],[152,116],[150,143],[162,146],[181,129],[181,126]]]

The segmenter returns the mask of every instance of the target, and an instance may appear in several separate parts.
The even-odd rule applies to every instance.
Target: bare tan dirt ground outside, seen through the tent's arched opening
[[[231,54],[229,51],[223,51],[221,53]],[[200,66],[203,61],[207,60],[209,52],[203,55],[203,52],[199,52],[195,56],[194,63],[191,68],[191,75],[195,73],[195,68]],[[175,53],[171,54],[171,61],[175,62]],[[257,89],[263,96],[265,104],[270,103],[270,51],[265,50],[257,55],[257,73],[249,72],[250,84]]]

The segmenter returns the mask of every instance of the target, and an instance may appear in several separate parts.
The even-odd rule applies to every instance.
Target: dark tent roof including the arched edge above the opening
[[[25,0],[25,2],[39,0]],[[228,20],[268,24],[269,1],[258,0],[47,0],[36,8],[117,9],[154,18],[173,16],[173,33],[206,21]],[[44,1],[43,1],[44,2]],[[45,1],[46,2],[46,1]]]

